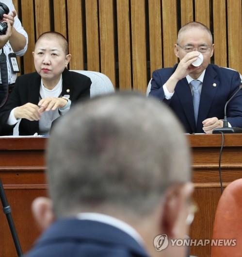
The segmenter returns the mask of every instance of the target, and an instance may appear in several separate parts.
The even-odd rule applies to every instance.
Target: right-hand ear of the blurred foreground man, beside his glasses
[[[194,187],[192,183],[168,188],[163,203],[161,215],[161,232],[171,238],[182,238],[188,233],[186,224],[189,215],[188,201]]]

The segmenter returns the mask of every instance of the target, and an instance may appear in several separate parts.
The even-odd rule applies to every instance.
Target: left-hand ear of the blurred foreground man
[[[54,221],[52,201],[47,197],[38,197],[32,202],[32,213],[41,231]]]

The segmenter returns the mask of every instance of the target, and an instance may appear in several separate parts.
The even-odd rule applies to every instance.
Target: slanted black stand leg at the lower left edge
[[[8,225],[10,227],[11,230],[11,234],[14,240],[14,244],[15,244],[15,248],[16,248],[16,252],[17,252],[17,256],[20,257],[23,255],[18,237],[17,237],[17,232],[16,232],[16,228],[14,225],[14,221],[12,219],[12,215],[11,215],[11,207],[8,204],[5,192],[4,192],[4,188],[2,186],[1,183],[1,179],[0,179],[0,198],[1,198],[1,203],[2,203],[2,208],[3,208],[3,212],[6,214],[7,220],[8,220]]]

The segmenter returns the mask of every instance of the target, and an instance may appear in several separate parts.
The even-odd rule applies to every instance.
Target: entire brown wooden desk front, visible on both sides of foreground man
[[[188,135],[193,154],[194,200],[199,206],[191,227],[192,239],[210,239],[220,197],[218,174],[221,135]],[[24,252],[38,237],[31,203],[46,195],[44,152],[47,138],[0,138],[0,178]],[[224,185],[242,178],[242,134],[225,135],[222,155]],[[191,254],[210,257],[210,246],[192,247]],[[16,256],[5,215],[0,211],[0,256]]]

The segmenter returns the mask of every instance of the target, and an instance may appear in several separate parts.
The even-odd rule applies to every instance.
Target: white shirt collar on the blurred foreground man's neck
[[[130,237],[136,240],[140,245],[144,245],[143,239],[134,228],[132,228],[129,224],[121,220],[118,220],[114,217],[101,214],[101,213],[95,213],[95,212],[82,212],[77,214],[77,218],[79,220],[97,221],[97,222],[106,223],[111,226],[114,226],[124,231],[125,233],[127,233]]]

